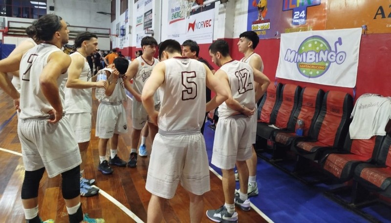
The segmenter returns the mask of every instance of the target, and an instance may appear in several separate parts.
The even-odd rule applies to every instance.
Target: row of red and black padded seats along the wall
[[[271,160],[290,151],[297,156],[296,169],[311,168],[300,165],[313,161],[336,182],[354,179],[369,191],[391,197],[391,136],[351,139],[352,110],[353,98],[345,92],[270,85],[259,103],[256,148],[271,141]],[[304,122],[303,136],[295,133],[298,120]]]

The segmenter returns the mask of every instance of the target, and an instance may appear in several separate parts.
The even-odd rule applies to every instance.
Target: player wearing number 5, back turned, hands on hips
[[[208,157],[200,128],[205,111],[226,100],[228,92],[205,64],[181,57],[177,41],[160,43],[159,59],[162,62],[153,68],[141,96],[151,121],[159,126],[145,186],[152,193],[147,222],[161,222],[165,199],[174,197],[180,181],[189,192],[190,222],[199,223],[203,194],[210,190]],[[217,97],[205,106],[206,85]],[[158,112],[153,97],[159,87]]]

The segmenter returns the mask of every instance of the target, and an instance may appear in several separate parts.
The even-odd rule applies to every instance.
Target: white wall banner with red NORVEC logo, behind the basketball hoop
[[[180,10],[178,0],[168,0],[167,22],[162,21],[162,41],[174,39],[182,44],[185,40],[194,40],[198,44],[213,41],[213,25],[215,18],[215,3],[196,10],[189,19]]]

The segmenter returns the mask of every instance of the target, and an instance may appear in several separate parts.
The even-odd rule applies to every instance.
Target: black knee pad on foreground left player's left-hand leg
[[[25,171],[22,184],[22,199],[38,197],[38,189],[44,171],[44,167],[34,171]]]

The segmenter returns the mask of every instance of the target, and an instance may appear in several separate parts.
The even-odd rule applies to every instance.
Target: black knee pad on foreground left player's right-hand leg
[[[80,165],[61,174],[63,198],[70,200],[80,195]]]

